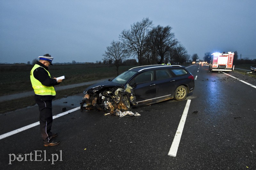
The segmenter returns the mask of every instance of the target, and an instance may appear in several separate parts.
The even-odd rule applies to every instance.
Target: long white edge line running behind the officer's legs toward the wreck
[[[60,113],[60,114],[58,114],[58,115],[53,116],[52,118],[55,119],[55,118],[57,118],[57,117],[64,116],[64,115],[66,115],[66,114],[68,114],[68,113],[71,113],[71,112],[73,112],[73,111],[76,111],[76,110],[78,110],[78,109],[80,109],[80,107],[77,107],[77,108],[75,108],[75,109],[71,109],[71,110],[65,111],[65,112],[63,112],[63,113]],[[40,124],[39,122],[36,122],[36,123],[33,123],[33,124],[29,124],[29,125],[27,125],[27,126],[24,126],[24,127],[22,127],[22,128],[16,129],[16,130],[14,130],[14,131],[10,131],[10,132],[5,133],[5,134],[3,134],[3,135],[0,135],[0,140],[3,139],[3,138],[6,138],[6,137],[8,137],[8,136],[14,135],[14,134],[16,134],[16,133],[19,133],[19,132],[21,132],[21,131],[25,131],[25,130],[27,130],[27,129],[29,129],[29,128],[32,128],[32,127],[34,127],[34,126],[37,126],[37,125],[39,125],[39,124]]]

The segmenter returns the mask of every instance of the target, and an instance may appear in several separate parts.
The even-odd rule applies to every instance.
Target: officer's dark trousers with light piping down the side
[[[41,135],[44,142],[49,142],[52,139],[52,100],[36,100],[39,108],[39,122]]]

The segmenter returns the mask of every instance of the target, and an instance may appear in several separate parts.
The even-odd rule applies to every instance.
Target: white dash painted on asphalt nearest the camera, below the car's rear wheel
[[[191,100],[188,99],[187,104],[185,106],[185,109],[183,111],[182,117],[180,119],[180,124],[178,126],[177,131],[176,131],[175,137],[172,141],[172,146],[171,146],[171,148],[169,150],[169,153],[168,153],[169,156],[176,157],[178,147],[179,147],[179,144],[180,144],[180,138],[181,138],[182,131],[183,131],[183,128],[184,128],[184,125],[185,125],[185,122],[186,122],[187,115],[188,115],[188,109],[189,109],[190,102],[191,102]]]

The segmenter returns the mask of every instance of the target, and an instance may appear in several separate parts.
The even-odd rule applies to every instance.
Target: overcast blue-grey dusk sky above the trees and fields
[[[102,61],[111,41],[143,18],[171,26],[199,59],[224,51],[256,59],[255,9],[255,0],[1,0],[0,63],[46,53],[53,64]]]

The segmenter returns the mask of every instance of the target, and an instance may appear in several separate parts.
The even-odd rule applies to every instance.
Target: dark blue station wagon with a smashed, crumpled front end
[[[182,101],[194,90],[194,76],[180,65],[133,67],[113,80],[96,83],[84,90],[81,109],[113,113],[116,109],[150,105],[169,99]]]

